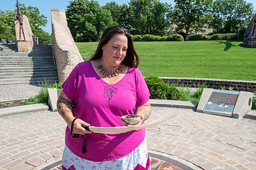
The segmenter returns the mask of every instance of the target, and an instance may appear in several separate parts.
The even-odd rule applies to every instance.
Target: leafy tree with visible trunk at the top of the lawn
[[[172,22],[177,25],[177,31],[185,30],[187,41],[191,31],[203,31],[211,19],[208,13],[212,0],[175,0],[176,4],[170,13]]]

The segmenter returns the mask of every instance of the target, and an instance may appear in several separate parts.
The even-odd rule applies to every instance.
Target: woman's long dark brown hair
[[[115,34],[124,34],[127,37],[128,40],[128,48],[126,51],[126,56],[124,57],[122,63],[129,66],[129,67],[138,67],[139,65],[139,56],[135,51],[134,45],[133,45],[133,39],[131,34],[127,29],[125,29],[122,26],[112,26],[108,29],[106,29],[99,41],[99,44],[97,46],[97,50],[95,51],[94,55],[90,60],[97,60],[102,57],[102,46],[109,42],[109,40],[115,35]]]

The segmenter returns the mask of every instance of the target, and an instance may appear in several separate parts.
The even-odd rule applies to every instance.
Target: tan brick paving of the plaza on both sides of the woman
[[[166,114],[176,116],[147,128],[149,152],[198,169],[256,169],[256,120],[153,107],[149,121]],[[51,111],[0,117],[0,170],[41,169],[59,161],[65,128]]]

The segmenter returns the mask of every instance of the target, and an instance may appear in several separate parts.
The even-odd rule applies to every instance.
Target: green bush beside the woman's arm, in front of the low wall
[[[150,99],[179,100],[181,97],[176,87],[169,87],[156,76],[146,77],[145,82],[151,93]]]

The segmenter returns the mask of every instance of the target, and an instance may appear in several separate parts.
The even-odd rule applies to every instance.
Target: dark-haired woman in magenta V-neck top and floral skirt
[[[151,115],[138,64],[131,35],[113,26],[103,32],[94,56],[72,70],[57,102],[68,124],[62,169],[151,169],[145,129],[113,135],[82,127],[133,126],[120,119],[127,114],[140,115],[140,125]]]

